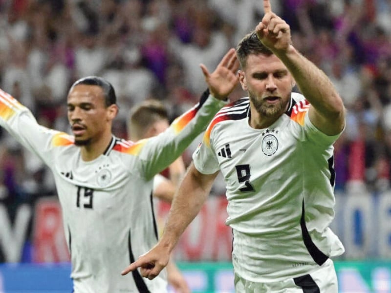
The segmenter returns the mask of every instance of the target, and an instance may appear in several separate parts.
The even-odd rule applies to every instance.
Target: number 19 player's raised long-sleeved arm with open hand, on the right
[[[224,101],[239,83],[238,68],[234,48],[225,54],[212,73],[201,64],[209,89],[201,102],[175,119],[165,132],[148,141],[137,142],[137,149],[141,150],[137,153],[141,164],[139,170],[145,178],[151,179],[169,166],[206,129],[217,111],[226,105]]]

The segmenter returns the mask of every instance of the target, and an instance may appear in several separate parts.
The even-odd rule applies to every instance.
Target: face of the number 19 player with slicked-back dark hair
[[[69,91],[67,106],[68,120],[77,146],[98,141],[109,127],[104,93],[100,86],[74,86]]]

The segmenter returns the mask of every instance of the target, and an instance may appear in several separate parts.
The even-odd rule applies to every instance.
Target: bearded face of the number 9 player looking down
[[[278,118],[286,110],[294,80],[277,56],[249,55],[239,80],[261,117]]]

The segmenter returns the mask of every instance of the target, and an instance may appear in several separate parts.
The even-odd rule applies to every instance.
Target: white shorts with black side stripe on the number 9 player
[[[280,282],[255,283],[235,274],[237,293],[338,293],[338,280],[331,259],[318,270]]]

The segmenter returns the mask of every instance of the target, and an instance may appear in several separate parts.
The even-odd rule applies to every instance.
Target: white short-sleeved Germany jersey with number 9
[[[344,252],[328,228],[334,217],[333,146],[292,93],[289,110],[267,129],[249,125],[248,98],[222,108],[193,154],[197,170],[221,170],[234,233],[235,272],[252,282],[306,274]]]

